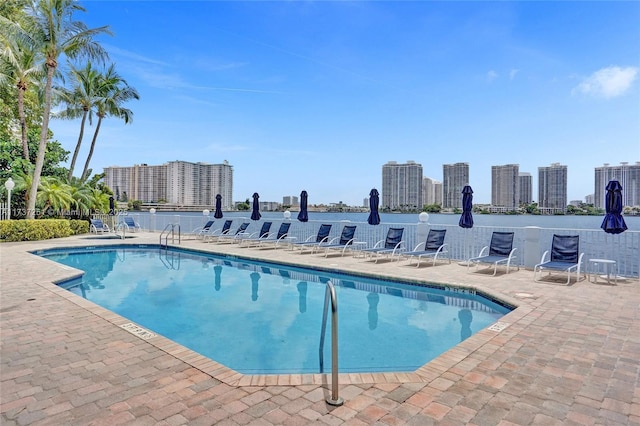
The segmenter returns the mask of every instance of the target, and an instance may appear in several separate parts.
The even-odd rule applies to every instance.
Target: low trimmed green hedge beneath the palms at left
[[[39,241],[89,232],[86,220],[25,219],[0,221],[0,241]]]

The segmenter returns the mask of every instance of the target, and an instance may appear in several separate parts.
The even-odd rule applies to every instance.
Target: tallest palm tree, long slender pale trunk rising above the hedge
[[[108,28],[104,26],[90,29],[83,22],[74,21],[73,14],[78,11],[84,12],[85,9],[75,0],[37,0],[30,5],[29,19],[21,33],[22,36],[30,36],[31,48],[42,52],[47,67],[42,128],[33,171],[33,184],[29,191],[27,219],[35,217],[36,196],[47,148],[53,76],[58,68],[58,59],[62,55],[72,59],[80,56],[102,59],[106,56],[105,50],[94,37],[110,34]]]

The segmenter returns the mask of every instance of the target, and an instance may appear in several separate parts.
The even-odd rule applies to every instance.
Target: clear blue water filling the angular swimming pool
[[[35,254],[85,271],[62,287],[243,374],[320,372],[328,280],[340,372],[416,370],[511,310],[473,291],[154,246]],[[330,333],[329,323],[324,372]]]

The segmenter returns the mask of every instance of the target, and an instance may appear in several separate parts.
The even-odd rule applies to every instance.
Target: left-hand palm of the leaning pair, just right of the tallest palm
[[[84,126],[87,118],[89,118],[89,124],[92,124],[93,109],[98,102],[97,89],[101,77],[100,73],[92,67],[91,62],[87,62],[87,65],[83,69],[77,69],[72,66],[71,75],[74,79],[71,90],[60,90],[60,97],[67,107],[58,114],[59,117],[68,119],[82,117],[78,142],[76,142],[76,148],[73,151],[73,157],[71,158],[71,165],[69,166],[69,173],[67,175],[69,182],[71,182],[73,177],[73,170],[76,166],[80,146],[82,145]]]

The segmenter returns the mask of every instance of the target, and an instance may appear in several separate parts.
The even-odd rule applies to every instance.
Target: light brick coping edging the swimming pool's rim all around
[[[86,244],[82,240],[77,240],[76,242],[78,244],[67,245],[67,246],[55,246],[55,247],[51,247],[51,249],[65,249],[65,248],[77,249],[79,247],[88,246],[88,244]],[[46,242],[43,241],[42,243],[46,243]],[[100,247],[109,247],[109,246],[154,247],[154,246],[158,246],[158,244],[137,243],[134,241],[127,241],[127,240],[125,240],[124,242],[119,242],[118,244],[114,244],[111,241],[107,242],[105,240],[104,244],[99,244],[98,246]],[[97,247],[97,246],[90,245],[90,247]],[[192,251],[192,252],[199,252],[204,254],[216,254],[221,256],[228,256],[234,259],[240,258],[240,259],[255,260],[255,261],[261,261],[261,262],[266,261],[266,262],[285,264],[285,265],[295,266],[295,267],[310,268],[309,265],[305,265],[300,262],[282,261],[282,260],[278,260],[276,262],[272,260],[271,261],[265,260],[264,258],[260,258],[256,256],[227,254],[227,253],[217,252],[214,250],[203,250],[200,248],[184,247],[184,246],[173,245],[173,244],[169,245],[169,247],[177,250],[182,250],[182,251]],[[86,309],[92,314],[120,328],[123,328],[124,325],[132,323],[131,320],[119,314],[116,314],[112,311],[109,311],[108,309],[103,308],[57,285],[57,283],[68,281],[70,279],[74,279],[79,276],[82,276],[84,274],[84,271],[81,271],[72,267],[68,267],[65,265],[61,265],[53,260],[43,258],[34,253],[41,250],[47,250],[47,248],[37,248],[33,250],[28,250],[28,252],[34,255],[35,257],[41,259],[42,261],[52,262],[53,264],[58,266],[58,270],[60,272],[59,272],[59,275],[56,274],[51,279],[51,282],[38,283],[38,285],[66,299],[67,301],[75,304],[76,306]],[[311,268],[315,269],[317,268],[317,266],[313,266]],[[353,276],[363,276],[363,277],[371,277],[371,278],[378,278],[378,279],[392,279],[394,281],[398,280],[398,278],[393,278],[393,276],[390,274],[383,274],[383,273],[362,274],[352,270],[342,269],[340,267],[326,268],[323,270],[328,272],[345,273]],[[410,279],[405,280],[404,278],[402,278],[402,281],[410,282],[413,284],[418,284],[419,282],[421,282],[420,280],[410,280]],[[422,282],[425,285],[431,284],[431,285],[442,286],[444,288],[463,288],[463,289],[474,290],[478,294],[481,294],[483,296],[487,295],[490,298],[495,299],[496,301],[502,301],[505,304],[508,304],[514,307],[514,309],[511,312],[504,315],[502,318],[500,318],[498,322],[473,334],[469,338],[465,339],[463,342],[445,351],[441,355],[427,362],[422,367],[418,368],[413,372],[339,373],[338,378],[341,385],[365,384],[365,383],[381,384],[381,383],[429,383],[429,382],[432,382],[433,380],[442,376],[442,374],[444,374],[451,368],[455,367],[457,364],[459,364],[462,360],[467,358],[469,355],[478,351],[480,348],[482,348],[484,345],[489,343],[491,340],[495,339],[496,336],[498,336],[500,333],[502,333],[505,330],[508,330],[510,326],[520,321],[522,318],[524,318],[533,310],[533,307],[527,304],[526,301],[513,299],[512,297],[509,297],[505,294],[502,294],[500,292],[497,292],[491,289],[486,289],[486,288],[478,289],[473,285],[442,283],[442,282],[436,282],[433,280],[429,280],[429,281],[424,280]],[[526,299],[526,297],[524,297],[524,299]],[[144,327],[140,326],[139,324],[137,325],[144,329]],[[130,330],[128,331],[131,332]],[[140,337],[136,333],[132,333],[132,334],[136,335],[138,338],[143,339],[144,341],[155,346],[156,348],[164,351],[165,353],[175,357],[176,359],[230,386],[237,386],[237,387],[272,386],[272,385],[278,385],[278,386],[324,385],[324,386],[327,386],[330,381],[330,375],[331,375],[330,372],[317,373],[317,374],[256,374],[256,375],[242,374],[155,332],[153,333],[155,335],[149,338]]]

